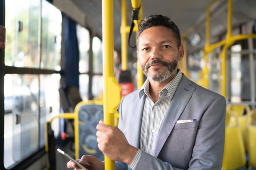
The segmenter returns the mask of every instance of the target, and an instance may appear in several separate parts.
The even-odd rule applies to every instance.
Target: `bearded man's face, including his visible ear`
[[[138,61],[149,80],[162,82],[176,73],[182,60],[183,47],[178,48],[170,28],[155,26],[141,32],[138,39]]]

